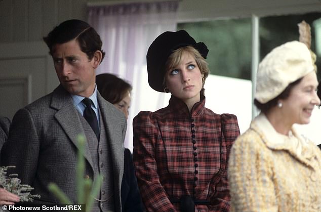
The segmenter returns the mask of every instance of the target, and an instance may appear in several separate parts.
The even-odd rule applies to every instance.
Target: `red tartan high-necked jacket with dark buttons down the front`
[[[180,199],[207,200],[195,211],[229,211],[227,162],[239,136],[237,118],[205,108],[205,97],[191,114],[172,96],[166,108],[141,111],[133,120],[138,186],[147,211],[180,211]],[[171,199],[171,200],[170,200]]]

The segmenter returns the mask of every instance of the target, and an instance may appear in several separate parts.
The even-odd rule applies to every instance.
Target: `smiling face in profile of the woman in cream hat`
[[[310,122],[312,110],[315,105],[320,105],[320,99],[316,95],[318,86],[314,71],[305,75],[290,91],[290,96],[283,103],[283,110],[290,123],[306,124]]]

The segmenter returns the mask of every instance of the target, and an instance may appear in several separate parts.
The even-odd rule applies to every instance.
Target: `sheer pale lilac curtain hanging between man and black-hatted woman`
[[[147,82],[146,53],[165,31],[175,31],[178,1],[124,3],[88,8],[88,22],[103,41],[106,56],[96,74],[113,73],[133,86],[125,147],[133,149],[132,119],[141,110],[168,104],[170,94],[152,90]],[[160,79],[162,80],[162,79]]]

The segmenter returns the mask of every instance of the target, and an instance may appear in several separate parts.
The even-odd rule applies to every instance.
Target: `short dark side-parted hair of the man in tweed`
[[[64,44],[73,39],[78,41],[79,47],[87,54],[90,60],[94,57],[94,53],[97,50],[102,53],[101,61],[104,59],[105,52],[101,49],[102,41],[100,36],[96,30],[85,21],[76,19],[64,21],[49,32],[47,37],[44,37],[44,41],[51,55],[53,54],[54,45]]]

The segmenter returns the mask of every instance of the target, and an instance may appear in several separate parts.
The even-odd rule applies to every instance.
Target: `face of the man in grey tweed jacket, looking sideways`
[[[52,49],[57,76],[70,94],[90,97],[95,89],[95,56],[88,59],[76,40],[56,44]]]

